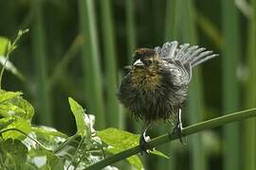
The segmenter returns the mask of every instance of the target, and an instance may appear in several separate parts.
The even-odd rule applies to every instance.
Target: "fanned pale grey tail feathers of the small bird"
[[[176,41],[166,42],[162,48],[156,47],[155,51],[164,58],[179,60],[182,64],[190,63],[192,67],[218,56],[204,47],[190,45],[190,43],[178,45]]]

